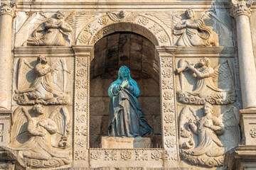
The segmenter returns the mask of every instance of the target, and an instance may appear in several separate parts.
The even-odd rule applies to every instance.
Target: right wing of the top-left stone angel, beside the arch
[[[65,22],[68,23],[73,29],[80,28],[80,26],[85,25],[93,16],[93,13],[73,11],[69,16],[67,16],[67,18],[65,18]]]

